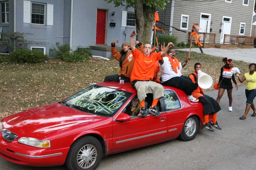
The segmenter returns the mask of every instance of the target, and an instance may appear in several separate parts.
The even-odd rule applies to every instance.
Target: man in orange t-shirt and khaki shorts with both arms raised
[[[160,97],[164,97],[164,88],[162,85],[152,81],[154,78],[154,68],[156,61],[162,59],[162,56],[167,53],[171,46],[173,46],[173,43],[169,42],[167,47],[158,53],[151,53],[152,45],[150,43],[145,43],[143,48],[144,53],[142,53],[134,47],[133,36],[135,35],[137,35],[137,33],[133,30],[130,35],[130,48],[135,59],[131,74],[132,86],[136,88],[138,93],[137,95],[141,106],[141,116],[147,116],[145,107],[145,98],[147,97],[147,93],[153,94],[153,102],[151,107],[149,107],[149,113],[159,116],[160,113],[156,109],[156,104]]]

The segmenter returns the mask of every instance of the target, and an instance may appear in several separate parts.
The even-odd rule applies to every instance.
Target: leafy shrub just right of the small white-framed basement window
[[[61,60],[63,60],[63,57],[68,55],[69,52],[71,51],[69,44],[62,45],[60,44],[60,42],[56,42],[55,46],[56,47],[54,48],[50,48],[50,51],[53,51],[55,53],[54,55],[55,58],[59,58]]]

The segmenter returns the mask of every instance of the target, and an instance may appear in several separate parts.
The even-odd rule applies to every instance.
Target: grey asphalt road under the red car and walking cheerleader
[[[245,120],[239,120],[245,109],[245,86],[233,90],[233,112],[228,112],[228,96],[220,100],[222,110],[217,120],[222,130],[202,129],[189,142],[167,141],[152,146],[110,155],[101,160],[97,170],[113,169],[255,169],[256,117],[250,110]],[[207,92],[213,98],[217,90]],[[0,158],[4,170],[66,170],[65,166],[28,167]]]

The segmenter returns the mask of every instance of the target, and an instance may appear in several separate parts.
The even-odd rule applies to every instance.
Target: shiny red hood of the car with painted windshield
[[[112,117],[92,115],[55,103],[11,115],[4,118],[2,123],[3,128],[12,131],[18,137],[44,139],[51,135],[56,137],[57,134],[70,134],[70,131],[75,133],[77,128],[97,128],[110,123],[110,120]]]

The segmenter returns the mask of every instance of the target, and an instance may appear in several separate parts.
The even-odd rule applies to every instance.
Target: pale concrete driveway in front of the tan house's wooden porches
[[[189,48],[177,49],[189,51]],[[199,48],[191,48],[191,51],[201,53]],[[256,48],[252,49],[221,49],[221,48],[203,48],[204,54],[215,55],[219,57],[228,57],[233,60],[242,60],[244,62],[256,63]]]

